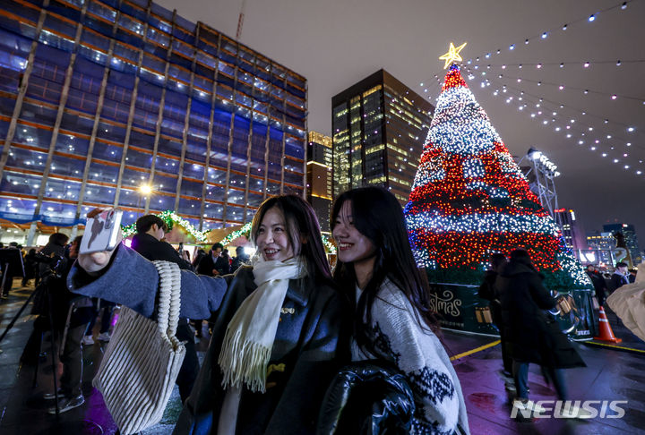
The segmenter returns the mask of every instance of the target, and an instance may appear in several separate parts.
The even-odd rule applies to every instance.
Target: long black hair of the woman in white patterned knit
[[[375,353],[368,326],[372,323],[372,307],[376,294],[387,277],[400,288],[415,308],[414,315],[421,328],[439,332],[439,324],[428,303],[427,278],[419,271],[410,248],[408,231],[399,200],[382,187],[368,186],[340,194],[331,211],[331,230],[336,226],[342,205],[349,201],[353,224],[376,248],[374,273],[357,301],[357,316],[354,334],[357,344],[364,350]],[[334,279],[340,284],[350,300],[354,300],[356,273],[352,263],[338,260]]]

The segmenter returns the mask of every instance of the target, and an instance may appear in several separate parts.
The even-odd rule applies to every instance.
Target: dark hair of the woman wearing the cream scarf
[[[320,225],[314,209],[297,195],[273,196],[262,202],[251,224],[251,242],[257,240],[262,219],[270,209],[279,209],[285,218],[288,241],[295,255],[305,261],[309,277],[335,287],[331,269],[323,247]]]

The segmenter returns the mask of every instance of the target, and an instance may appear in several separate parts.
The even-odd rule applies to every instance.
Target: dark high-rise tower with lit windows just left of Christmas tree
[[[331,98],[333,193],[366,184],[406,204],[434,107],[384,70]]]

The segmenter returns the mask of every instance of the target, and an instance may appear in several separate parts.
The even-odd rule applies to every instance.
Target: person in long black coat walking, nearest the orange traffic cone
[[[529,252],[516,249],[511,252],[511,260],[502,267],[495,281],[502,303],[508,350],[513,360],[517,389],[513,406],[534,411],[541,409],[529,400],[530,362],[542,366],[543,372],[554,383],[560,400],[567,399],[561,369],[586,367],[555,319],[546,312],[555,307],[556,301],[543,286],[542,280],[542,275],[530,260]],[[582,409],[569,408],[566,412],[563,410],[561,416],[576,417],[584,413]]]

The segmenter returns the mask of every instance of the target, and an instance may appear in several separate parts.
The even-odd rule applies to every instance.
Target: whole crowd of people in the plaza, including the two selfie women
[[[231,259],[215,243],[191,261],[183,246],[176,250],[165,242],[168,228],[153,215],[137,220],[131,248],[119,243],[112,252],[79,254],[80,237],[66,245],[67,236],[55,234],[40,254],[30,250],[24,263],[31,275],[23,284],[35,278],[38,285],[51,270],[37,255],[64,259],[56,277],[40,283],[56,289],[53,324],[66,335],[60,411],[84,401],[81,349],[93,344],[99,309],[103,341],[110,339],[114,305],[153,316],[159,275],[151,261],[166,260],[181,269],[176,337],[186,347],[176,378],[184,408],[174,433],[361,433],[375,424],[374,410],[386,409],[393,418],[381,415],[380,431],[468,434],[460,380],[430,310],[399,201],[382,188],[354,189],[334,202],[330,222],[338,247],[333,271],[314,210],[294,195],[271,197],[258,209],[250,233],[253,258],[237,247]],[[501,372],[515,393],[513,406],[540,411],[529,400],[530,363],[539,364],[557,396],[567,400],[563,369],[585,364],[546,312],[557,300],[527,251],[496,253],[491,266],[479,296],[490,301],[500,331]],[[616,264],[609,280],[589,267],[599,304],[630,282],[626,266]],[[23,362],[39,357],[39,340],[50,324],[46,311],[36,313],[41,320]],[[202,320],[209,320],[211,341],[200,364],[194,337],[202,336]],[[340,378],[366,367],[381,383],[361,390]],[[392,376],[403,385],[394,395],[383,387],[383,378]],[[338,385],[342,394],[330,387]],[[571,407],[560,416],[584,413]]]

